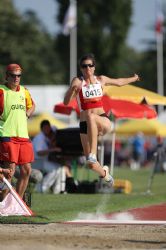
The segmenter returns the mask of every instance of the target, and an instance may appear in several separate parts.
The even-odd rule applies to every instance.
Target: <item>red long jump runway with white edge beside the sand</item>
[[[85,218],[84,218],[85,217]],[[106,215],[83,216],[65,224],[96,224],[96,225],[166,225],[166,203],[143,208],[134,208],[124,212]]]

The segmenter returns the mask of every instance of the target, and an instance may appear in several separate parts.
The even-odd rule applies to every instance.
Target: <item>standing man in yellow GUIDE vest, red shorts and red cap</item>
[[[34,159],[32,143],[29,140],[27,118],[35,109],[29,91],[20,85],[22,68],[18,64],[9,64],[6,68],[5,83],[0,85],[0,161],[3,168],[10,170],[9,182],[19,165],[20,176],[16,191],[23,198],[31,174],[31,162]],[[0,201],[8,190],[2,190]]]

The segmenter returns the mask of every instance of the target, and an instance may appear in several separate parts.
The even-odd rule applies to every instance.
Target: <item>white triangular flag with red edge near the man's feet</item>
[[[21,197],[17,194],[12,185],[8,182],[6,178],[3,178],[3,182],[9,188],[10,192],[0,202],[0,216],[9,215],[24,215],[32,216],[33,212],[27,207]]]

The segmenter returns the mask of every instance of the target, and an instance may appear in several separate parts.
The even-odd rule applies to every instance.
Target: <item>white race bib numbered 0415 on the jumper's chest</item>
[[[101,100],[103,91],[100,83],[89,84],[82,87],[83,99],[85,102],[93,102]]]

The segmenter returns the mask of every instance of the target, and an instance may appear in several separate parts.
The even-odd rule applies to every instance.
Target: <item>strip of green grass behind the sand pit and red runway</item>
[[[87,173],[88,172],[88,173]],[[92,171],[82,168],[78,179],[97,179]],[[166,174],[155,174],[152,193],[147,194],[150,169],[131,171],[128,168],[115,168],[114,178],[126,179],[132,183],[130,194],[32,194],[34,217],[0,217],[0,223],[50,223],[72,220],[82,213],[111,213],[130,208],[166,202]]]

